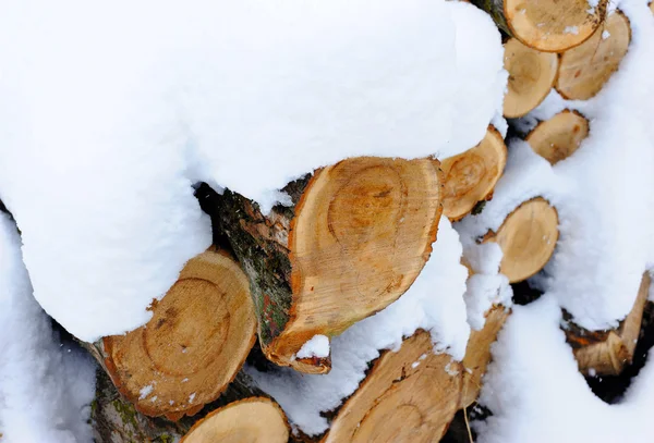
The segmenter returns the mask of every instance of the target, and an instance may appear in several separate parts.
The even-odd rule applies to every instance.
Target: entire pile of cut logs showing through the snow
[[[475,3],[509,36],[509,119],[526,115],[555,88],[570,99],[595,96],[629,47],[629,22],[620,12],[604,21],[606,1],[592,10],[583,0]],[[589,132],[581,113],[566,110],[521,135],[556,165]],[[96,439],[439,441],[455,414],[480,395],[492,344],[510,315],[505,306],[494,305],[484,327],[471,331],[462,361],[435,353],[423,330],[395,352],[379,349],[353,393],[325,414],[329,429],[320,435],[291,434],[284,413],[243,366],[258,340],[266,365],[306,377],[329,372],[329,348],[307,343],[328,343],[398,300],[429,259],[441,214],[458,222],[483,211],[508,157],[502,135],[488,126],[476,146],[449,158],[360,157],[306,171],[280,189],[289,199],[269,212],[230,189],[209,189],[201,204],[211,217],[215,246],[190,260],[166,296],[153,302],[147,324],[84,344],[101,366],[92,414]],[[537,195],[472,242],[499,246],[499,272],[509,283],[543,270],[559,239],[557,209]],[[467,257],[461,263],[474,274]],[[645,274],[632,311],[615,330],[570,322],[566,334],[582,372],[618,373],[629,364],[649,284]]]

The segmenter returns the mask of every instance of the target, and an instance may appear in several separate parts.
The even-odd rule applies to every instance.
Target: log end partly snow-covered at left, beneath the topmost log
[[[507,119],[526,115],[545,100],[556,82],[558,54],[541,52],[510,38],[504,46],[509,73],[502,113]]]

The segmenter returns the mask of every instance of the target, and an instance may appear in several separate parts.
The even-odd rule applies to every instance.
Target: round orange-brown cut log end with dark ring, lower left
[[[152,310],[146,325],[104,339],[105,366],[138,411],[194,415],[233,380],[254,344],[247,279],[232,258],[208,250]]]

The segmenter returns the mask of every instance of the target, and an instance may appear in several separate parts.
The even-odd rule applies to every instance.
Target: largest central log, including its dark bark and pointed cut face
[[[262,349],[308,373],[328,356],[299,358],[314,336],[330,337],[402,295],[432,251],[441,213],[435,159],[361,157],[319,169],[282,190],[292,206],[264,216],[225,190],[209,213],[251,283]]]

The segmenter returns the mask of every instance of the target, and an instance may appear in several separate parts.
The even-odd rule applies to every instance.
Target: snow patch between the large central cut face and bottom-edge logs
[[[470,334],[463,303],[468,271],[460,264],[461,253],[457,232],[447,218],[441,218],[432,257],[409,291],[332,339],[329,373],[303,374],[288,368],[258,372],[246,367],[247,372],[275,397],[295,427],[314,435],[327,429],[320,411],[339,406],[356,390],[368,362],[380,350],[398,350],[402,339],[417,329],[431,332],[435,352],[447,352],[461,360]]]

